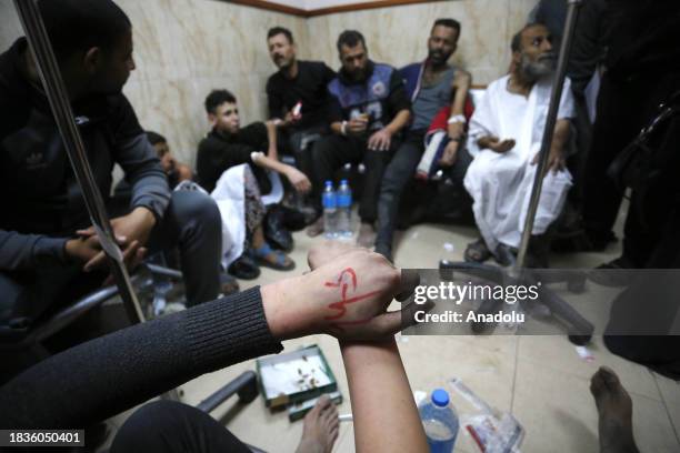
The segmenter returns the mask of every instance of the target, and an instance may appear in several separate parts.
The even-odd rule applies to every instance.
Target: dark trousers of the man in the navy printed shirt
[[[362,222],[374,222],[378,219],[378,195],[380,182],[390,157],[398,148],[392,140],[389,151],[371,151],[367,148],[367,139],[356,137],[327,135],[314,144],[313,150],[313,189],[314,209],[320,214],[321,193],[324,181],[333,180],[333,174],[346,163],[366,165],[363,174],[363,192],[359,202],[359,217]]]

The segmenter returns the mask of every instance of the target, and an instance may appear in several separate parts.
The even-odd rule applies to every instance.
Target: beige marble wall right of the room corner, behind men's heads
[[[472,72],[474,83],[489,83],[503,74],[510,61],[510,37],[526,22],[537,0],[461,0],[363,10],[308,20],[316,43],[312,57],[339,66],[336,40],[346,29],[361,31],[377,61],[402,66],[427,54],[432,22],[450,17],[462,24],[452,62]]]

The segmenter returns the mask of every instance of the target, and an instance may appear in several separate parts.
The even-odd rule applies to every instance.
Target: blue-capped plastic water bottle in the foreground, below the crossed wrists
[[[436,389],[430,400],[423,402],[418,411],[428,436],[430,453],[451,453],[458,435],[458,415],[449,404],[447,391]]]

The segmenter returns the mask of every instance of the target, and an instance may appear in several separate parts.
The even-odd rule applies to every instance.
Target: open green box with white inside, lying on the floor
[[[338,390],[336,376],[317,345],[258,359],[256,366],[260,391],[269,407],[311,400]]]

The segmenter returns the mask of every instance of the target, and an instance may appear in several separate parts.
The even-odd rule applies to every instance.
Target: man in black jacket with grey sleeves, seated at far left
[[[209,197],[171,194],[121,92],[134,69],[130,20],[110,0],[43,0],[39,7],[104,201],[114,163],[132,187],[127,212],[110,212],[126,262],[132,265],[147,248],[178,245],[188,304],[214,299],[220,215]],[[84,281],[101,284],[106,274],[87,272],[106,271],[106,258],[88,229],[83,195],[26,38],[0,56],[0,324],[18,318],[30,323],[82,295]]]

